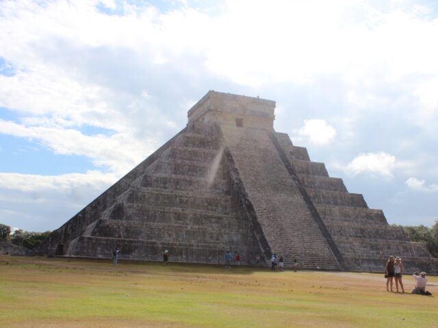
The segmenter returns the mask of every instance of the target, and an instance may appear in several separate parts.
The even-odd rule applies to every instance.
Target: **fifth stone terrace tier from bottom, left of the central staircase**
[[[144,174],[140,178],[139,187],[151,187],[155,189],[171,189],[185,191],[211,191],[229,195],[229,182],[220,174],[209,182],[206,177],[185,176],[181,174]]]

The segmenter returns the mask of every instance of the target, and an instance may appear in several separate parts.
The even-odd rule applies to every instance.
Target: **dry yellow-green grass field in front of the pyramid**
[[[383,274],[0,256],[0,327],[438,327],[428,284],[433,297],[387,292]]]

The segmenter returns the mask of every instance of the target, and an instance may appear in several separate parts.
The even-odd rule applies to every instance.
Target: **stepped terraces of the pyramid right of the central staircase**
[[[275,133],[311,202],[350,271],[384,271],[389,255],[402,257],[405,271],[433,270],[422,243],[408,241],[402,228],[389,226],[381,210],[368,208],[363,195],[348,193],[342,179],[331,178],[324,164],[311,162],[307,150]]]

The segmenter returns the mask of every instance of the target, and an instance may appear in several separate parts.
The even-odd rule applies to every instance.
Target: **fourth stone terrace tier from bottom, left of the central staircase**
[[[179,191],[151,191],[146,188],[128,189],[118,198],[118,202],[133,204],[149,204],[167,207],[194,208],[198,210],[216,211],[218,214],[230,214],[229,197],[220,195],[190,195]]]

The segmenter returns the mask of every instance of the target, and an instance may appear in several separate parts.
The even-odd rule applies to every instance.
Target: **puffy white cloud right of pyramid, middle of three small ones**
[[[385,152],[360,154],[350,163],[346,170],[350,174],[372,174],[373,176],[393,177],[396,157]]]

